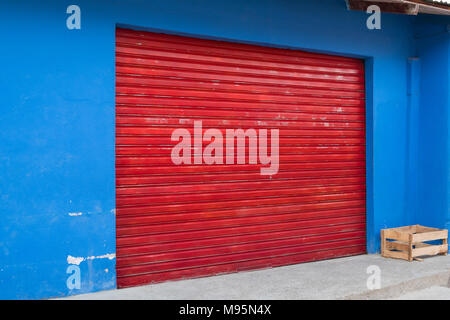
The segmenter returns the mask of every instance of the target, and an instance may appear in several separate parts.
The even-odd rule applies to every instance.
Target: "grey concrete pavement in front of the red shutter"
[[[370,290],[367,283],[376,284],[374,270],[379,270],[380,289]],[[361,255],[64,299],[448,299],[449,286],[450,256],[407,262]]]

